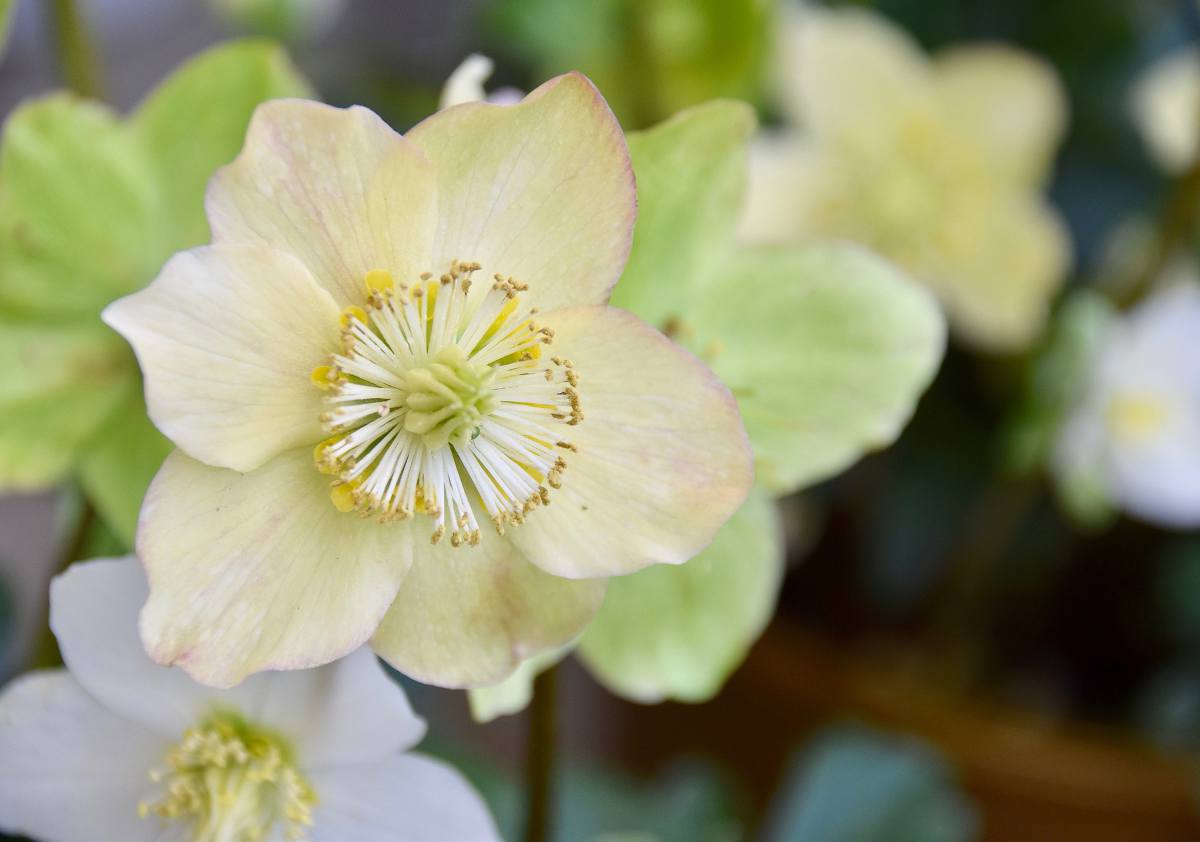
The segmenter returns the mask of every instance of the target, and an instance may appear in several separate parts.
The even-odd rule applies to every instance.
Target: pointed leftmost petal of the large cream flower
[[[104,309],[145,375],[150,417],[202,462],[239,471],[322,438],[310,373],[338,308],[304,264],[256,246],[193,248]]]

